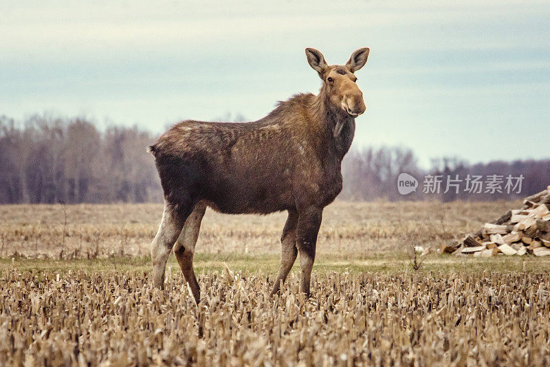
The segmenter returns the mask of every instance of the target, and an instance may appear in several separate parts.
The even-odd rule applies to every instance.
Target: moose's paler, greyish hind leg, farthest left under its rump
[[[164,212],[160,221],[159,230],[151,243],[151,260],[153,260],[153,284],[164,289],[164,271],[166,261],[172,252],[177,237],[184,226],[184,214],[177,205],[164,203]]]

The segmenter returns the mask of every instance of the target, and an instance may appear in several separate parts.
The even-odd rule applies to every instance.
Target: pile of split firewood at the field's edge
[[[485,223],[475,234],[440,250],[458,256],[550,255],[550,186],[526,197],[522,208],[510,210]]]

